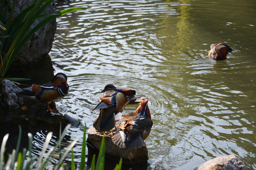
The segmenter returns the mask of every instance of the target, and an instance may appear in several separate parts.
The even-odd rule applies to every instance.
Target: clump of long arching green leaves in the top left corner
[[[11,7],[6,26],[1,26],[2,31],[5,30],[4,28],[6,28],[6,31],[3,32],[0,39],[0,78],[3,78],[6,74],[12,61],[15,59],[25,42],[27,42],[27,40],[42,26],[69,12],[87,9],[87,7],[77,7],[64,9],[56,12],[55,14],[42,14],[42,12],[51,5],[53,1],[54,0],[34,0],[34,3],[21,11],[20,14],[13,19],[13,12],[16,3],[16,0],[13,0],[13,6]],[[3,20],[6,18],[10,0],[8,0],[7,5],[5,5],[5,0],[1,0],[1,2],[0,22],[4,23]],[[39,18],[44,19],[28,31],[35,20]]]

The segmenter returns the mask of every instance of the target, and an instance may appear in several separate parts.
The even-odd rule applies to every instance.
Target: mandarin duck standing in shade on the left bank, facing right
[[[57,109],[52,110],[49,104],[63,98],[68,92],[67,76],[64,73],[57,73],[51,83],[44,85],[33,84],[30,87],[23,88],[23,92],[19,93],[19,95],[35,97],[40,102],[46,103],[48,110],[53,112]]]

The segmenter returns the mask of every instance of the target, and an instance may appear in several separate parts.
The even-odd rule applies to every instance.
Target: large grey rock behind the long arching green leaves
[[[2,0],[0,0],[0,2],[1,1]],[[18,16],[18,14],[23,9],[27,8],[32,1],[33,0],[17,0],[13,17]],[[13,0],[10,0],[10,7],[12,4]],[[8,11],[10,12],[10,8]],[[55,13],[55,8],[50,5],[45,11],[43,11],[43,14],[46,13]],[[37,19],[34,24],[32,24],[31,28],[36,26],[42,20],[43,19]],[[21,48],[12,65],[20,68],[32,65],[33,62],[41,59],[43,55],[48,54],[52,49],[56,27],[56,20],[54,19],[39,29]]]

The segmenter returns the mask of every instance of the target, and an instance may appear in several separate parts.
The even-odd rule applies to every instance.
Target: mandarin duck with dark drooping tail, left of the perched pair
[[[118,89],[114,85],[106,85],[101,91],[101,102],[92,110],[100,110],[100,114],[93,121],[93,127],[100,131],[107,131],[115,127],[115,115],[122,112],[125,106],[135,97],[135,90]]]

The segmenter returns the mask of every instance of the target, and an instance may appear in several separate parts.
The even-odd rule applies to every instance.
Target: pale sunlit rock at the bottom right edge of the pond
[[[227,155],[207,161],[194,170],[247,170],[247,167],[235,155]]]

